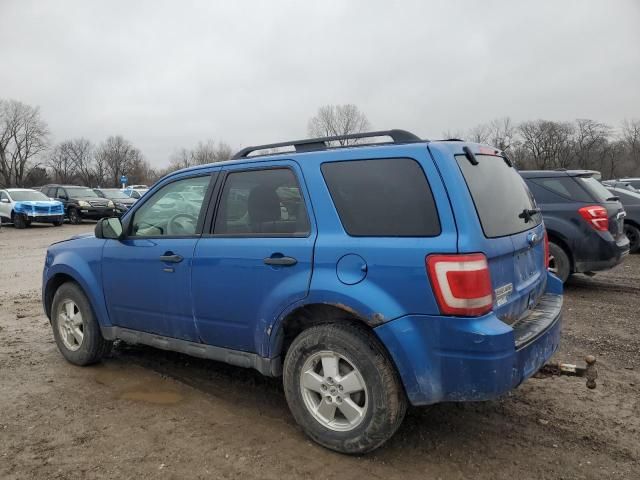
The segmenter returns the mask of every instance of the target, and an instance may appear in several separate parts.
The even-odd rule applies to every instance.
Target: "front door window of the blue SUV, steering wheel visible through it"
[[[196,234],[203,213],[210,176],[192,177],[169,183],[158,190],[134,214],[133,237],[191,236]],[[191,187],[203,187],[193,194]]]

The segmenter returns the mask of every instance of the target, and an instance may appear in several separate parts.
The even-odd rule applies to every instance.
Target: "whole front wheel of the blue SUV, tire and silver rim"
[[[53,297],[51,326],[60,353],[74,365],[91,365],[111,350],[93,314],[89,299],[73,282],[60,286]]]

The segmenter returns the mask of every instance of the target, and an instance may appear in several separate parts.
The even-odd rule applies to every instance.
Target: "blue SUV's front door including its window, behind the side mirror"
[[[209,171],[165,183],[129,215],[123,240],[106,241],[102,275],[114,325],[198,340],[191,262],[216,176]],[[176,195],[187,191],[199,193]]]

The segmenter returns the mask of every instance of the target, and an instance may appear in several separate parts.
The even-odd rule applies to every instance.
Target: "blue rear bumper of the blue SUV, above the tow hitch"
[[[513,327],[493,313],[479,318],[408,315],[375,332],[413,405],[489,400],[520,385],[553,355],[560,342],[561,309],[560,292],[548,292]]]

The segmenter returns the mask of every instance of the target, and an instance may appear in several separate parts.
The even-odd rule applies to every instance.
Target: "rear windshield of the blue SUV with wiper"
[[[482,230],[488,238],[524,232],[539,225],[542,215],[534,213],[536,203],[515,168],[502,157],[476,155],[472,165],[464,155],[456,155],[476,206]]]

